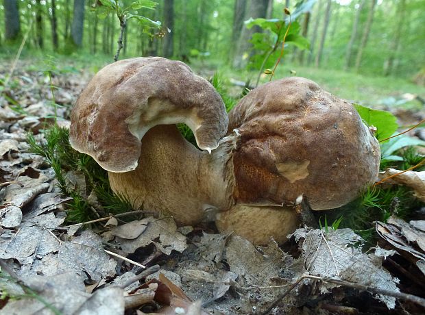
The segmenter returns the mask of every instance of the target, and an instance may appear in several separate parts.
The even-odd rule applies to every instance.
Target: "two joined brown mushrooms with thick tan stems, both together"
[[[175,126],[185,123],[199,149]],[[227,114],[182,62],[132,58],[103,68],[71,113],[71,145],[108,171],[135,208],[178,225],[215,220],[254,244],[284,242],[293,205],[352,201],[376,180],[376,138],[349,103],[302,77],[255,88]]]

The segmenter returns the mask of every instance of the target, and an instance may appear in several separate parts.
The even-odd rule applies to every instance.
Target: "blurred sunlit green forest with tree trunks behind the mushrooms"
[[[23,59],[96,71],[113,62],[122,29],[119,59],[158,55],[255,86],[282,54],[276,76],[378,102],[424,92],[424,8],[425,0],[3,0],[0,53],[12,60],[23,46]]]

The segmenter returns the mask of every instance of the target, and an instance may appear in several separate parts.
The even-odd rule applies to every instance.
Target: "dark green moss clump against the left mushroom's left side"
[[[69,171],[77,171],[84,175],[85,193],[88,195],[90,192],[95,192],[102,210],[107,212],[103,215],[119,214],[132,209],[132,204],[126,197],[112,192],[108,172],[101,168],[92,157],[75,151],[71,147],[68,129],[55,125],[45,131],[45,142],[38,143],[32,134],[27,134],[27,142],[32,153],[45,157],[51,165],[62,193],[72,197],[67,216],[69,222],[81,223],[96,218],[92,205],[88,203],[86,197],[80,195],[78,189],[69,183],[67,178]]]

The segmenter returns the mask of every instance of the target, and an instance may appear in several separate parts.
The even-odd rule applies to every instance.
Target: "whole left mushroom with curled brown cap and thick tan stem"
[[[204,151],[176,123],[188,125]],[[108,171],[112,190],[134,208],[193,225],[224,200],[224,164],[209,153],[227,127],[221,97],[186,64],[132,58],[101,69],[86,86],[71,112],[70,142]]]

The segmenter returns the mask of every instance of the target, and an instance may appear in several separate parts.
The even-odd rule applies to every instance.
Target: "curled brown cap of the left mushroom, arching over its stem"
[[[210,151],[226,134],[228,116],[213,86],[183,62],[132,58],[93,77],[71,112],[70,140],[107,171],[132,171],[141,139],[155,125],[186,123]]]

